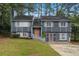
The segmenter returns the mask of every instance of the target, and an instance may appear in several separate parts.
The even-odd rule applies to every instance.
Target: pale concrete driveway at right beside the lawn
[[[79,45],[72,43],[49,43],[62,56],[79,56]]]

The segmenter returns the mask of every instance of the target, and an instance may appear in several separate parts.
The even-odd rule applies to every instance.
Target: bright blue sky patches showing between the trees
[[[61,3],[59,4],[59,9],[61,8],[60,5],[61,5]],[[42,3],[42,15],[43,16],[45,15],[45,11],[46,11],[45,7],[46,7],[45,3]],[[39,8],[38,3],[35,3],[34,4],[34,9],[38,10],[38,8]],[[52,10],[54,9],[54,13],[51,12],[50,14],[54,16],[56,14],[56,3],[52,3],[51,4],[51,8],[52,8]],[[74,8],[71,8],[71,10],[73,11]],[[16,15],[16,12],[15,12],[15,15]],[[28,15],[28,13],[26,12],[25,15]],[[34,16],[38,16],[38,12],[37,11],[34,11]]]

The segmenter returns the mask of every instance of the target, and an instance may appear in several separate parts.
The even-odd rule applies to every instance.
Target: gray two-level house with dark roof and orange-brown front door
[[[32,37],[45,41],[69,42],[71,38],[70,20],[62,16],[16,16],[11,23],[11,33],[20,37]]]

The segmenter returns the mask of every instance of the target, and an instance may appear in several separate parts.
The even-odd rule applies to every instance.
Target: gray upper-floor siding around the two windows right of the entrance
[[[68,22],[68,27],[59,27],[59,22],[53,22],[53,27],[44,27],[44,22],[42,22],[42,31],[44,32],[71,32],[71,26]]]

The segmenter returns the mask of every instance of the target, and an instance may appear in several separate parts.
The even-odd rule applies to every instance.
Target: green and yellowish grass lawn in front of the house
[[[4,39],[0,41],[1,56],[53,56],[59,55],[46,43],[38,40]]]

